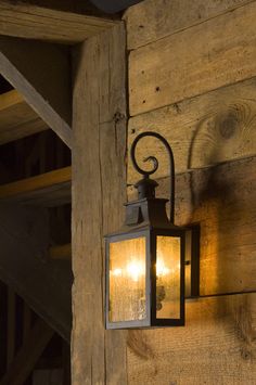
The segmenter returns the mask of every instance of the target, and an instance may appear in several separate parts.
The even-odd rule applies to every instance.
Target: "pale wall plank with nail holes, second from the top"
[[[131,51],[130,115],[256,75],[256,2]]]

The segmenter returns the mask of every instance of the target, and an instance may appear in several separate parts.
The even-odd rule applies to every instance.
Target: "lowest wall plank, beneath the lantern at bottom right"
[[[256,294],[187,300],[184,328],[129,331],[132,385],[254,385]]]

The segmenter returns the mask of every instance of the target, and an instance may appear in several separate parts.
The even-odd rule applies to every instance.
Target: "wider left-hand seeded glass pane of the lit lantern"
[[[110,244],[110,321],[145,318],[145,238]]]

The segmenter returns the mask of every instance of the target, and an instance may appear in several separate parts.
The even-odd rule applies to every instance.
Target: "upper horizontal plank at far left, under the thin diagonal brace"
[[[16,90],[0,94],[0,144],[47,129],[47,124]]]

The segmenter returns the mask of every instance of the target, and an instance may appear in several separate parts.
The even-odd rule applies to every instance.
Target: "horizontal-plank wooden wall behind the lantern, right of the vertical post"
[[[128,383],[256,383],[256,1],[145,0],[127,23],[128,147],[164,134],[176,159],[176,222],[200,222],[201,298],[184,328],[131,331]],[[163,147],[158,194],[168,196]],[[138,175],[128,162],[128,183]],[[132,194],[131,189],[128,190]]]

